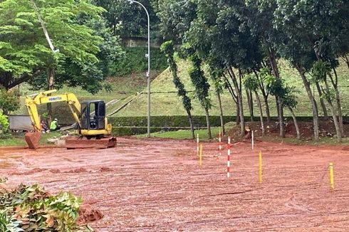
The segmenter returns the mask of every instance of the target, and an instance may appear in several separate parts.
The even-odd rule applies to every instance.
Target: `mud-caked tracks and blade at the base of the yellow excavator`
[[[86,139],[85,137],[73,137],[66,139],[67,149],[96,148],[105,149],[115,147],[116,137],[103,137],[98,139]]]

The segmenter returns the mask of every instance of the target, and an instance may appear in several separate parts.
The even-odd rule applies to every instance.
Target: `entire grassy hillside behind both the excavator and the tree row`
[[[297,90],[300,91],[298,94],[298,107],[296,109],[296,115],[298,116],[311,116],[311,105],[308,100],[308,96],[306,95],[306,91],[303,88],[303,83],[301,78],[299,78],[296,70],[290,67],[288,63],[284,60],[280,61],[279,64],[281,75],[286,79],[286,82],[295,86]],[[182,79],[185,88],[188,91],[194,90],[194,87],[189,79],[189,75],[187,70],[189,68],[189,63],[185,60],[178,60],[178,71],[179,77]],[[152,73],[152,78],[155,78],[158,73]],[[340,65],[338,68],[338,75],[340,77],[340,92],[343,103],[343,112],[344,115],[349,115],[349,101],[346,100],[349,97],[349,74],[348,68],[345,65]],[[123,105],[123,103],[127,102],[130,98],[135,96],[137,92],[146,93],[146,78],[144,77],[144,73],[138,73],[136,75],[129,75],[124,78],[110,78],[110,84],[113,85],[113,92],[107,93],[105,90],[101,91],[97,95],[92,95],[85,90],[81,90],[80,88],[63,88],[59,90],[59,93],[75,93],[80,100],[87,99],[101,99],[106,102],[119,99],[120,102],[113,105],[112,107],[108,107],[107,113],[113,112],[115,109]],[[175,92],[175,85],[172,83],[172,75],[170,70],[167,69],[163,73],[155,78],[152,81],[152,95],[151,95],[151,107],[152,107],[152,115],[186,115],[182,107],[181,98],[177,96],[177,93],[163,93],[163,92]],[[24,94],[31,94],[33,91],[29,91],[24,85],[21,88],[21,92]],[[225,93],[222,95],[222,105],[224,107],[224,115],[235,115],[235,103],[231,99],[229,93]],[[316,93],[316,92],[315,92]],[[244,94],[244,93],[243,93]],[[194,98],[194,93],[189,93],[189,96]],[[318,98],[318,94],[316,93],[316,97]],[[219,109],[217,105],[217,97],[214,92],[210,91],[210,98],[212,100],[212,110],[210,110],[211,115],[219,115]],[[319,100],[318,100],[319,101]],[[192,100],[193,115],[204,115],[204,110],[200,106],[197,99]],[[276,108],[274,103],[274,97],[269,97],[269,107],[271,108],[271,115],[276,115]],[[44,111],[45,107],[41,107],[41,111]],[[62,111],[63,110],[63,111]],[[61,105],[58,109],[58,112],[63,112],[63,114],[70,115],[68,107],[65,105]],[[247,107],[247,103],[245,101],[244,104],[244,112],[245,115],[249,115],[249,110]],[[321,112],[321,108],[319,105],[319,112]],[[24,102],[22,101],[21,110],[18,112],[19,114],[26,114],[26,109],[24,107]],[[258,116],[258,108],[256,101],[254,102],[254,114]],[[147,95],[142,94],[135,98],[127,107],[118,112],[113,116],[145,116],[147,115]],[[285,115],[288,115],[288,111],[285,110]]]

